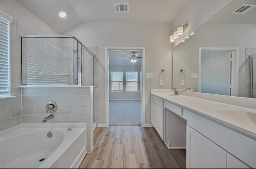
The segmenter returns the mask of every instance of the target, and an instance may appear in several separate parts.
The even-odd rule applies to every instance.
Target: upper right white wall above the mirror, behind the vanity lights
[[[190,0],[180,11],[178,17],[172,22],[175,31],[180,25],[188,24],[187,30],[175,42],[178,45],[185,37],[197,30],[233,0]],[[173,32],[172,32],[173,33]]]

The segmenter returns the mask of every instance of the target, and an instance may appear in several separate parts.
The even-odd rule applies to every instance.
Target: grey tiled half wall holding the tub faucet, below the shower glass
[[[93,148],[93,87],[92,86],[21,86],[22,123],[42,123],[42,119],[54,114],[46,123],[86,123],[87,152]],[[46,104],[57,103],[54,113],[46,113]]]

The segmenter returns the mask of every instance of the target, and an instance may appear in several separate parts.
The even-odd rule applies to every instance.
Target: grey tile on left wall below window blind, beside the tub
[[[11,88],[12,98],[0,98],[0,131],[22,123],[21,89]]]

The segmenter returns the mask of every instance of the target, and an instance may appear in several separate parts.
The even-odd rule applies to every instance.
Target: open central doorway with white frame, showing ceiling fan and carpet
[[[106,126],[144,125],[144,47],[106,47]]]

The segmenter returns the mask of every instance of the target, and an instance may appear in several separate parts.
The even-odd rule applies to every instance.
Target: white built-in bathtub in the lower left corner
[[[0,132],[0,168],[78,168],[85,155],[86,123],[21,124]]]

